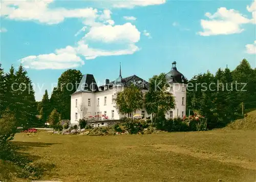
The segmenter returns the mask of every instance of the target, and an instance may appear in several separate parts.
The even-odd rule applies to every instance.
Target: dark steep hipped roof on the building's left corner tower
[[[82,76],[79,86],[76,89],[76,92],[74,94],[82,93],[82,92],[94,93],[98,91],[99,89],[94,79],[94,76],[91,74],[86,74]]]

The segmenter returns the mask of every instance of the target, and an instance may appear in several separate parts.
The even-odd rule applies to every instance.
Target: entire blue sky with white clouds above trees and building
[[[1,63],[22,63],[36,100],[67,69],[98,82],[147,80],[177,61],[188,79],[246,58],[256,66],[256,1],[2,1]]]

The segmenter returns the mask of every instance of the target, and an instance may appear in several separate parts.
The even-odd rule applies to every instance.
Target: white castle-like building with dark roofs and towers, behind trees
[[[186,111],[186,84],[184,84],[184,76],[177,71],[176,62],[173,62],[172,70],[166,74],[166,79],[170,84],[170,90],[167,92],[174,95],[176,104],[175,109],[166,114],[166,118],[182,117]],[[99,121],[94,122],[94,126],[106,126],[109,120],[119,120],[125,117],[118,112],[113,99],[120,90],[131,84],[141,87],[142,92],[148,90],[148,82],[136,75],[122,78],[121,66],[119,77],[112,82],[106,79],[102,86],[96,84],[93,75],[83,75],[76,92],[71,95],[71,124],[78,124],[79,119],[82,118],[104,115],[108,120],[101,117]],[[151,117],[145,109],[137,110],[136,114],[142,115],[142,118]]]

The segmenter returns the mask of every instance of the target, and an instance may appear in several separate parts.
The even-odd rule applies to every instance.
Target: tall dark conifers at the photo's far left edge
[[[29,127],[37,122],[36,101],[31,79],[20,65],[4,73],[0,64],[0,118],[13,113],[16,126]]]

